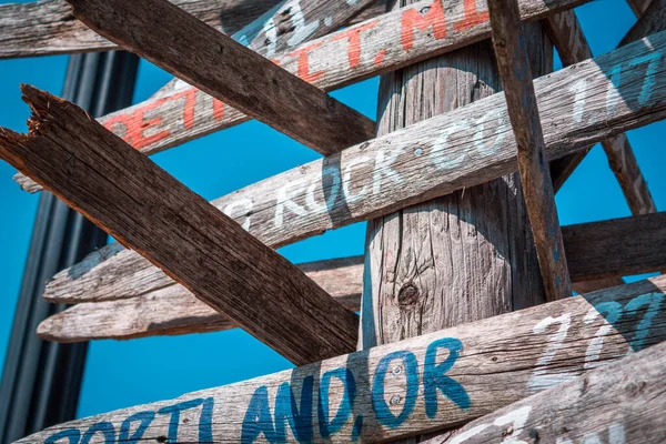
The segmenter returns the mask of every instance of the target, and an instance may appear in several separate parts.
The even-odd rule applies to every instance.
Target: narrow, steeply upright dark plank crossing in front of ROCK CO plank
[[[571,296],[572,287],[518,2],[488,0],[488,11],[546,301],[557,301]]]

